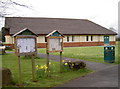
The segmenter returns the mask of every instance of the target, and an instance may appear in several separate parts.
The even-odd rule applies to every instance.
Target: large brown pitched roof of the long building
[[[24,28],[28,28],[35,34],[45,35],[53,30],[57,30],[63,35],[116,35],[115,32],[86,19],[6,17],[5,27],[10,28],[10,34],[15,34]]]

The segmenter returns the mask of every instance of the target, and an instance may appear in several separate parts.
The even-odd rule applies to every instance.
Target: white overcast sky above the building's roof
[[[120,0],[13,0],[32,9],[12,6],[11,16],[89,19],[106,28],[118,29]]]

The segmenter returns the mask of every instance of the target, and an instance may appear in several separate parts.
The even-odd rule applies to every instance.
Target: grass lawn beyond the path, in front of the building
[[[46,50],[38,49],[38,52],[45,53]],[[59,53],[51,53],[51,54],[59,55]],[[66,47],[64,48],[63,57],[105,63],[104,62],[104,46]],[[115,46],[115,63],[113,64],[120,64],[120,61],[118,62],[118,42]]]

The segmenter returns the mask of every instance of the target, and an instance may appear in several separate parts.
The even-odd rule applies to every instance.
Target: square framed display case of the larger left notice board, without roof
[[[17,36],[15,38],[16,55],[36,54],[36,37],[35,36]]]

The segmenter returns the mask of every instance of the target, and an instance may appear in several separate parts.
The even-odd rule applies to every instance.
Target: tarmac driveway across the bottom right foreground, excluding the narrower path
[[[56,87],[118,87],[118,65],[71,80]]]

